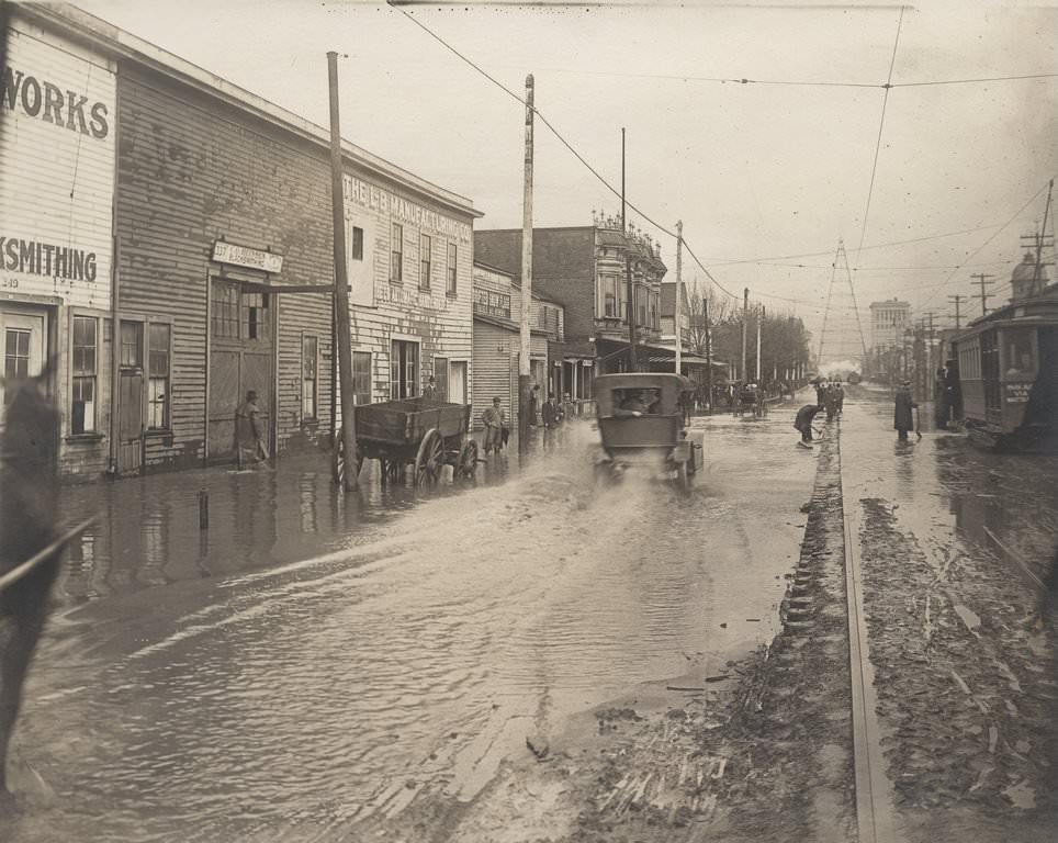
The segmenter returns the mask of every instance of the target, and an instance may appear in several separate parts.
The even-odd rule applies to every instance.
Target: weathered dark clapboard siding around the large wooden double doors
[[[282,273],[271,283],[330,283],[328,164],[320,150],[139,68],[121,68],[119,92],[120,306],[166,314],[172,324],[171,436],[148,437],[147,463],[201,464],[209,279],[222,270],[210,260],[213,244],[223,238],[282,254]],[[272,409],[277,448],[284,450],[318,443],[319,431],[329,430],[323,360],[317,420],[302,424],[301,338],[316,336],[329,361],[330,296],[277,297]]]

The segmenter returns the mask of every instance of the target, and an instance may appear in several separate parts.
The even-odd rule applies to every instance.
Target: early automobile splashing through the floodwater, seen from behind
[[[601,374],[595,397],[603,452],[600,480],[631,465],[675,476],[683,488],[702,467],[704,436],[687,429],[693,381],[675,373]]]

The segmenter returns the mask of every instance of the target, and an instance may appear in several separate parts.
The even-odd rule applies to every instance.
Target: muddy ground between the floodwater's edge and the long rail
[[[365,839],[731,843],[856,839],[837,443],[819,447],[784,631],[531,741],[470,803],[413,802]],[[542,757],[538,757],[542,756]]]

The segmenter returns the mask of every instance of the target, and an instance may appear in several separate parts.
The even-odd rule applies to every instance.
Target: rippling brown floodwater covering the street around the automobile
[[[323,839],[471,800],[527,737],[718,673],[776,632],[814,462],[789,405],[695,425],[689,496],[596,487],[587,424],[429,494],[369,475],[337,499],[318,458],[67,490],[103,515],[19,738],[55,795],[4,839]]]

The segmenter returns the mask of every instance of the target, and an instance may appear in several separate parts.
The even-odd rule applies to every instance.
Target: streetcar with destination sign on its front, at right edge
[[[971,439],[998,450],[1058,449],[1058,285],[982,316],[952,348]]]

